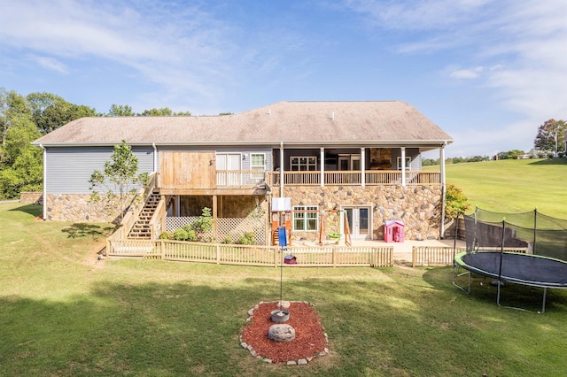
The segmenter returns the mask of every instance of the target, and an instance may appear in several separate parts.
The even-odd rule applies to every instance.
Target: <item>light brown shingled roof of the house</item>
[[[222,116],[82,118],[33,142],[43,146],[115,145],[415,145],[453,142],[400,101],[283,101]]]

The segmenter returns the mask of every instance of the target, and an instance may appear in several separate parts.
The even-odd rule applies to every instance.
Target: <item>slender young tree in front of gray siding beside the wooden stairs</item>
[[[90,175],[90,189],[93,191],[90,202],[102,204],[102,211],[114,216],[118,210],[118,219],[123,219],[136,190],[148,182],[148,174],[137,174],[138,159],[125,141],[114,145],[113,154],[105,162],[104,171],[95,170]],[[102,190],[102,191],[99,191]]]

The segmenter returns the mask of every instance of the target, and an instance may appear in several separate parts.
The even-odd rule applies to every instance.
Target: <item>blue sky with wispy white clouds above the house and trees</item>
[[[97,112],[400,100],[448,157],[530,150],[567,120],[567,2],[0,0],[0,87]]]

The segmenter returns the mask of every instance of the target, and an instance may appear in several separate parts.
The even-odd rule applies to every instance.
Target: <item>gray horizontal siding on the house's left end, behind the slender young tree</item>
[[[138,173],[153,171],[153,149],[133,147]],[[90,175],[102,171],[113,147],[48,148],[46,158],[47,194],[90,194]]]

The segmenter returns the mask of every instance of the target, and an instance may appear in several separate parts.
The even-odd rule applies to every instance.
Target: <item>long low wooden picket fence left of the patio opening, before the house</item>
[[[286,247],[247,246],[223,243],[170,240],[108,240],[106,255],[113,257],[160,258],[218,265],[265,265],[299,267],[385,267],[393,265],[389,247]],[[291,254],[295,264],[283,263]]]

